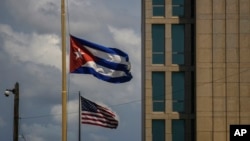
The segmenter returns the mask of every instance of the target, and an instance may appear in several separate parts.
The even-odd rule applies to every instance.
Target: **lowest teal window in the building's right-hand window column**
[[[172,141],[185,141],[185,122],[184,120],[172,120]]]

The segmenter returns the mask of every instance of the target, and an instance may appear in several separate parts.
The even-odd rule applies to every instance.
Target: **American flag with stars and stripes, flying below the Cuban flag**
[[[116,114],[81,96],[81,123],[117,128]]]

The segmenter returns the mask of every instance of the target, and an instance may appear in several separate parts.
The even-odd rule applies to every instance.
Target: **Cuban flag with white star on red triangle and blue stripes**
[[[128,55],[118,49],[70,36],[70,73],[92,74],[110,83],[132,79]]]

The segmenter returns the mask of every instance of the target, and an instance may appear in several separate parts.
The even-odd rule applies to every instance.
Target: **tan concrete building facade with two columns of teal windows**
[[[144,141],[250,124],[250,0],[142,0]]]

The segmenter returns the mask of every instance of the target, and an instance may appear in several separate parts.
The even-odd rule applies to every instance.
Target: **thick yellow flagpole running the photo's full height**
[[[67,141],[67,86],[66,86],[66,24],[65,0],[61,0],[61,38],[62,38],[62,141]]]

